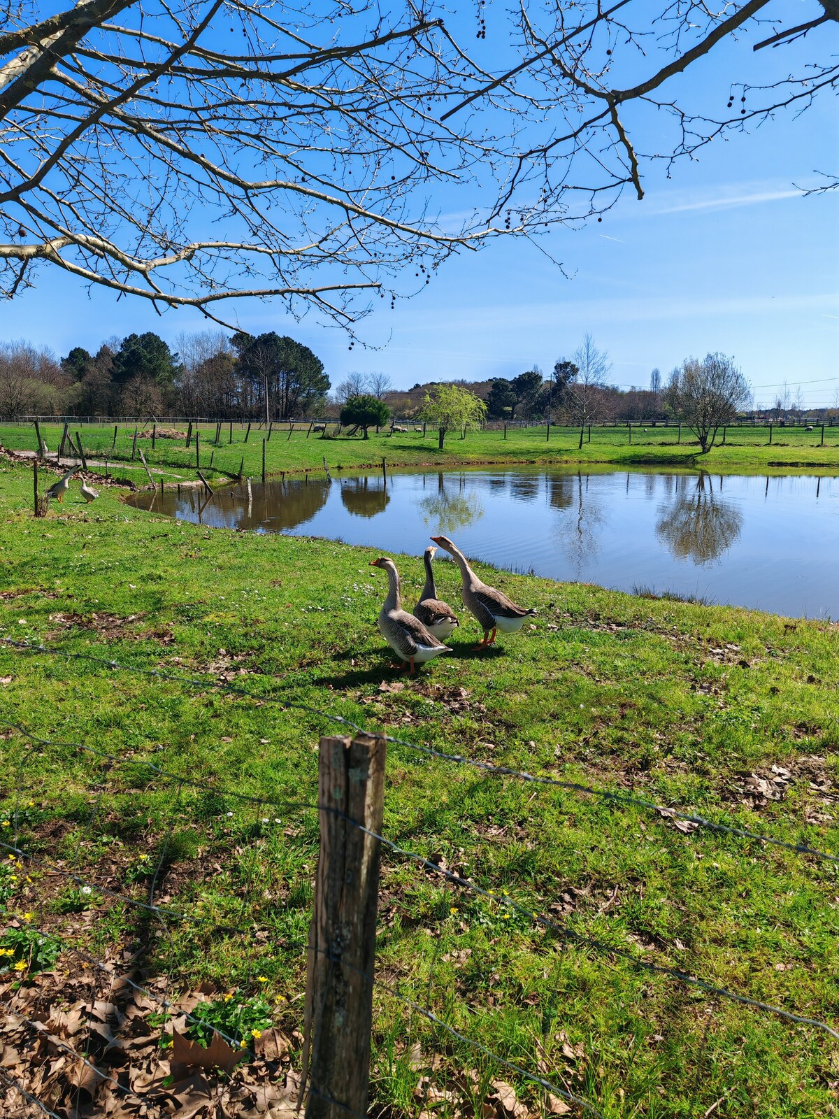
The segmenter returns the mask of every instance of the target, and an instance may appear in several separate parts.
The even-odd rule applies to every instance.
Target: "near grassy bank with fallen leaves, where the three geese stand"
[[[466,626],[447,662],[383,692],[395,677],[374,627],[384,596],[381,574],[367,565],[375,553],[213,533],[125,508],[112,491],[91,507],[75,495],[35,520],[30,486],[26,468],[2,466],[0,636],[207,680],[195,689],[0,647],[4,715],[125,758],[103,769],[68,746],[0,740],[7,810],[32,801],[23,846],[72,859],[96,884],[135,882],[142,897],[141,855],[153,861],[168,836],[162,896],[195,918],[158,941],[158,963],[171,974],[243,988],[267,976],[272,996],[290,999],[280,1019],[300,1019],[314,815],[243,808],[213,787],[313,801],[318,735],[330,724],[224,696],[211,688],[219,677],[477,759],[837,845],[836,627],[493,573],[538,608],[535,628],[479,656]],[[412,599],[420,563],[400,566]],[[451,601],[455,582],[441,565]],[[173,792],[150,780],[143,758],[204,787]],[[793,781],[780,800],[751,800],[743,774],[772,778],[773,764]],[[836,1014],[829,864],[685,835],[654,814],[396,745],[385,834],[643,959],[808,1016]],[[66,929],[59,885],[35,880],[12,908]],[[510,1060],[531,1069],[541,1060],[606,1116],[696,1117],[720,1098],[715,1113],[726,1117],[833,1113],[837,1049],[824,1034],[563,944],[505,912],[387,855],[379,975]],[[225,935],[204,921],[245,932]],[[104,902],[96,921],[72,928],[101,953],[143,934],[131,911]],[[566,1034],[581,1056],[567,1055]],[[447,1054],[444,1064],[516,1081],[379,991],[379,1103],[416,1112],[417,1073],[405,1054],[414,1041]]]

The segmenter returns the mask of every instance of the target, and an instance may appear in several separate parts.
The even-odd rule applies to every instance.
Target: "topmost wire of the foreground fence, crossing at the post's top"
[[[0,637],[0,643],[10,646],[12,648],[28,651],[28,652],[44,652],[50,656],[58,657],[69,657],[78,660],[91,660],[95,664],[104,665],[112,669],[121,669],[126,673],[135,673],[141,676],[153,676],[158,679],[171,680],[178,684],[187,684],[190,687],[201,687],[201,688],[215,688],[218,692],[224,692],[229,695],[239,696],[242,698],[258,700],[261,703],[276,704],[287,711],[302,711],[309,715],[314,715],[319,718],[324,718],[331,723],[337,723],[341,726],[346,726],[352,731],[358,731],[361,734],[375,734],[376,732],[369,731],[367,727],[362,726],[360,723],[356,723],[353,720],[347,718],[343,715],[336,715],[332,712],[326,712],[317,707],[311,707],[308,704],[301,704],[296,700],[283,699],[280,696],[272,695],[256,695],[249,692],[247,688],[239,688],[233,684],[219,684],[218,681],[211,681],[207,679],[200,679],[190,676],[178,676],[175,673],[164,673],[157,668],[136,668],[132,665],[123,665],[116,660],[110,660],[104,657],[94,657],[92,653],[85,652],[72,652],[65,649],[55,649],[45,645],[32,645],[27,641],[15,641],[12,638]],[[558,778],[550,777],[539,777],[535,773],[529,773],[526,770],[512,769],[508,765],[494,765],[492,762],[484,762],[477,758],[468,758],[464,754],[453,754],[443,750],[437,750],[434,746],[421,745],[416,742],[409,742],[407,739],[400,739],[390,734],[378,734],[378,737],[384,737],[387,742],[394,745],[404,746],[407,750],[413,750],[415,753],[423,754],[427,758],[433,758],[437,761],[452,762],[459,765],[469,765],[472,769],[481,770],[484,773],[489,773],[493,777],[511,777],[519,781],[526,781],[532,784],[540,784],[555,789],[565,789],[569,792],[578,792],[587,797],[593,797],[600,800],[605,800],[614,805],[625,805],[634,808],[642,808],[644,811],[657,812],[658,815],[669,818],[679,819],[688,824],[695,824],[697,827],[707,828],[711,831],[717,831],[725,835],[737,836],[743,839],[755,839],[758,843],[771,844],[775,847],[783,847],[786,850],[795,852],[800,855],[813,855],[817,858],[823,858],[831,863],[839,864],[839,855],[832,855],[829,852],[820,850],[818,847],[811,847],[809,844],[798,844],[790,843],[786,839],[777,839],[773,836],[764,836],[760,833],[752,831],[748,828],[741,828],[730,824],[719,824],[716,820],[709,820],[704,816],[698,816],[695,812],[684,812],[677,808],[668,808],[663,805],[657,805],[654,801],[647,800],[642,797],[633,797],[630,793],[624,792],[611,792],[606,789],[594,789],[591,786],[582,784],[578,781],[563,781]],[[268,803],[270,801],[265,801]]]

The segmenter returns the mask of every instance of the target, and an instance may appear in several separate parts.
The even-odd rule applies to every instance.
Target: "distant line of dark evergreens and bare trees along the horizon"
[[[0,342],[0,416],[202,416],[207,419],[339,419],[348,402],[369,398],[369,423],[384,423],[379,402],[396,419],[420,420],[428,393],[441,385],[468,389],[486,405],[482,421],[550,422],[581,429],[601,423],[663,422],[686,415],[685,386],[697,384],[697,368],[718,369],[711,358],[688,358],[664,378],[652,369],[649,387],[609,383],[612,364],[591,335],[568,357],[556,360],[546,377],[538,366],[513,377],[483,382],[447,379],[395,389],[385,373],[350,373],[334,389],[323,363],[308,346],[271,331],[257,336],[223,330],[182,333],[172,349],[150,331],[109,338],[95,352],[81,346],[65,357],[27,341]],[[725,358],[729,366],[733,359]],[[716,376],[720,376],[718,373]],[[701,378],[700,378],[701,379]],[[736,412],[751,406],[738,385]],[[785,386],[783,398],[757,414],[779,422],[804,414],[835,414],[803,407]],[[370,412],[370,408],[374,411]],[[728,420],[733,413],[726,413]],[[353,421],[355,422],[355,421]],[[456,425],[455,425],[456,426]]]

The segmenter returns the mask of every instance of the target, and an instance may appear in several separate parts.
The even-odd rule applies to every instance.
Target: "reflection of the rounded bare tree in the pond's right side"
[[[710,476],[700,474],[695,491],[686,492],[682,485],[681,492],[676,493],[675,504],[661,506],[656,535],[677,560],[706,564],[736,544],[742,528],[743,514],[739,509],[719,500]]]

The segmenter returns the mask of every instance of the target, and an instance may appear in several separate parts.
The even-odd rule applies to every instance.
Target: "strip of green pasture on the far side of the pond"
[[[258,477],[262,472],[262,440],[265,434],[253,427],[245,443],[246,429],[235,425],[233,443],[229,430],[224,429],[219,444],[213,443],[215,425],[206,425],[200,431],[200,464],[209,477],[235,474],[244,459],[244,472]],[[50,450],[60,440],[58,425],[44,425],[41,434]],[[120,427],[116,448],[112,449],[113,426],[91,425],[81,429],[82,442],[88,457],[97,455],[100,461],[107,458],[117,476],[131,478],[138,485],[145,485],[147,477],[139,458],[131,462],[133,426]],[[611,463],[623,467],[658,466],[675,469],[704,469],[722,473],[755,473],[774,471],[790,467],[808,467],[813,470],[839,471],[839,427],[826,429],[824,446],[819,446],[820,431],[805,432],[803,429],[779,429],[770,446],[766,432],[760,429],[741,427],[728,432],[725,445],[715,446],[708,454],[699,453],[697,443],[688,442],[688,433],[679,445],[673,427],[650,427],[645,432],[633,430],[632,443],[623,427],[601,427],[592,430],[591,443],[585,442],[577,450],[578,432],[554,429],[550,442],[545,439],[544,427],[510,430],[505,440],[500,431],[471,432],[465,439],[456,433],[449,435],[445,448],[437,449],[436,433],[423,436],[411,431],[407,434],[389,435],[381,432],[371,434],[369,440],[347,436],[307,439],[307,429],[301,427],[289,439],[289,429],[275,427],[266,444],[266,470],[280,473],[292,470],[322,470],[326,457],[330,468],[353,469],[357,467],[380,467],[383,457],[388,464],[464,464],[481,462],[516,463]],[[147,461],[169,481],[196,478],[195,443],[187,450],[186,440],[159,439],[154,450],[151,439],[138,440]],[[31,424],[0,425],[0,444],[11,450],[34,450],[35,432]],[[213,467],[209,467],[213,457]]]

